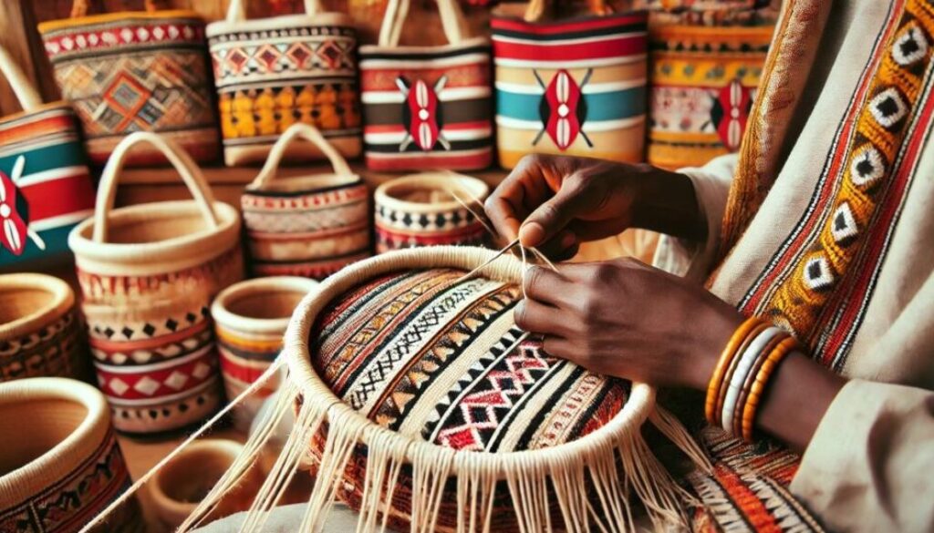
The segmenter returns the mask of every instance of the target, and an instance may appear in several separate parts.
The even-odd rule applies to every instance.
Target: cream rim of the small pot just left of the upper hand
[[[457,184],[460,189],[466,189],[481,202],[486,200],[489,195],[489,186],[487,182],[478,177],[455,172],[438,171],[403,175],[385,181],[375,189],[373,193],[374,203],[377,206],[389,207],[389,209],[401,213],[422,214],[466,210],[466,208],[456,200],[432,203],[409,202],[392,196],[392,192],[395,189],[402,189],[405,187],[420,187],[422,189],[440,190],[442,192],[446,192],[449,189],[457,189],[451,188],[450,186],[452,184]],[[457,192],[457,190],[455,190],[455,192]],[[462,198],[461,200],[469,201],[470,198]],[[376,217],[379,217],[378,209],[376,210]]]

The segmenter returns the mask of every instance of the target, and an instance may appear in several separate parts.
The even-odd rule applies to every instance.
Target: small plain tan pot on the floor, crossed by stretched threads
[[[152,478],[149,492],[159,522],[168,529],[175,529],[181,524],[242,451],[243,444],[239,442],[205,439],[192,443],[159,470]],[[250,498],[261,484],[260,471],[255,468],[249,470],[241,483],[224,496],[206,521],[246,511]]]

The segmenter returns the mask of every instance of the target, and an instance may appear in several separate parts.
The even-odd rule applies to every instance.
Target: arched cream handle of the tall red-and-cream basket
[[[117,180],[120,179],[120,171],[123,170],[123,163],[126,160],[130,149],[138,144],[148,144],[163,153],[165,158],[172,163],[178,175],[188,189],[191,196],[198,203],[198,209],[204,215],[208,226],[213,229],[220,227],[218,214],[214,211],[214,194],[205,181],[205,176],[201,174],[201,169],[191,159],[182,147],[179,147],[172,139],[167,139],[157,133],[152,132],[134,132],[127,135],[120,144],[114,148],[110,154],[110,159],[101,173],[101,181],[97,186],[97,201],[94,204],[94,233],[92,240],[96,243],[103,243],[107,238],[107,216],[113,210],[114,199],[117,196]]]

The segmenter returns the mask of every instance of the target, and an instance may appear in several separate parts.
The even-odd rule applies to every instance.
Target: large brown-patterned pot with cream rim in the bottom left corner
[[[0,531],[77,532],[130,485],[106,400],[62,378],[0,386]],[[98,531],[143,531],[135,499]]]

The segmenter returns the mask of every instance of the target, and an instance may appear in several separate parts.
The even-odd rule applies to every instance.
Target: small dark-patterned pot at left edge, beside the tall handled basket
[[[44,376],[91,377],[75,293],[50,275],[0,275],[0,382]]]

